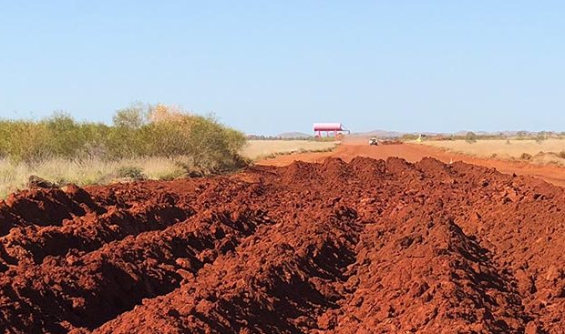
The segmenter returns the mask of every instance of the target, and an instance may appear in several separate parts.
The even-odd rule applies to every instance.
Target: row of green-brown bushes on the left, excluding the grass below
[[[77,122],[64,113],[39,121],[0,120],[0,158],[38,164],[51,158],[81,161],[183,156],[207,173],[248,163],[240,156],[246,137],[213,116],[137,104],[118,110],[113,121],[111,127]]]

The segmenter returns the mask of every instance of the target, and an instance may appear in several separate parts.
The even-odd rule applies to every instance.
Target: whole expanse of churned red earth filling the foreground
[[[0,202],[9,333],[565,333],[565,191],[432,158]]]

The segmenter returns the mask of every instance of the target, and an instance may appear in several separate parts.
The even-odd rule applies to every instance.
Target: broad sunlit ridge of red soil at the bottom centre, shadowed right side
[[[295,224],[259,228],[235,252],[217,258],[179,289],[146,300],[94,332],[319,329],[324,314],[337,309],[347,294],[345,271],[354,261],[353,249],[362,229],[351,208],[324,211],[327,214],[320,217],[303,213]],[[314,219],[303,220],[307,217]]]

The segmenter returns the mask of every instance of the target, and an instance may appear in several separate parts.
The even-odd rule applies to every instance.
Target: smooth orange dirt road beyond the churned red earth
[[[532,165],[528,162],[484,159],[468,157],[461,154],[449,153],[436,147],[425,145],[403,144],[403,145],[381,145],[371,147],[363,143],[344,143],[333,152],[301,153],[288,156],[279,156],[272,159],[259,161],[258,165],[286,166],[295,160],[305,162],[320,162],[325,157],[340,157],[344,161],[351,161],[354,157],[373,157],[375,159],[386,159],[387,157],[402,157],[410,162],[420,161],[424,157],[435,157],[438,160],[450,163],[463,161],[468,164],[497,168],[505,174],[527,175],[542,178],[554,185],[565,187],[565,168],[557,166]]]

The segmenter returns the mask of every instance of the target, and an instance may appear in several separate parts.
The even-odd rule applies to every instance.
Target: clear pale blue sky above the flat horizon
[[[0,0],[0,116],[135,101],[257,134],[565,131],[565,3]]]

